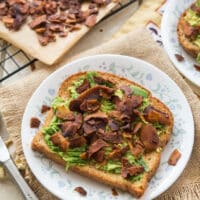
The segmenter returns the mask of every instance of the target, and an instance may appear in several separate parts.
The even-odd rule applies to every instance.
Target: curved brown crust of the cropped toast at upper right
[[[188,10],[188,9],[187,9]],[[191,55],[192,57],[196,58],[198,53],[200,52],[200,49],[198,46],[193,44],[186,36],[183,31],[183,23],[185,23],[184,16],[187,12],[187,10],[181,15],[179,22],[178,22],[178,27],[177,27],[177,33],[178,33],[178,40],[181,44],[181,46],[184,48],[184,50]]]

